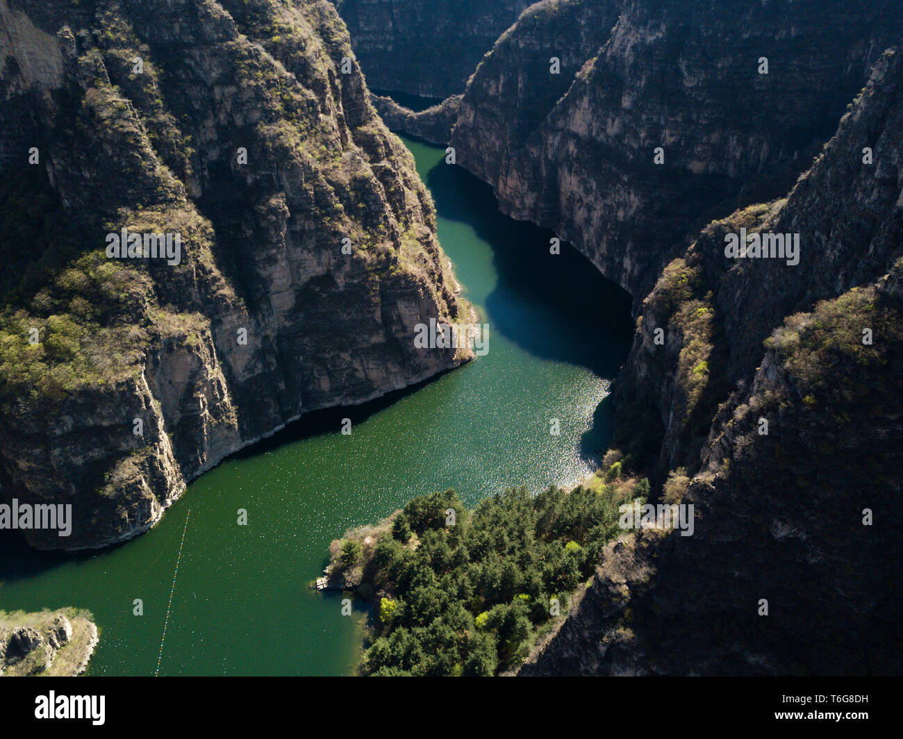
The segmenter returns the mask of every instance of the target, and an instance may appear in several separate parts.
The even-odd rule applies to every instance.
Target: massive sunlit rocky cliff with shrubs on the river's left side
[[[0,0],[0,27],[0,178],[42,204],[0,185],[0,499],[73,506],[34,546],[134,536],[303,413],[468,358],[414,349],[470,307],[329,3]],[[110,257],[122,229],[178,257]]]

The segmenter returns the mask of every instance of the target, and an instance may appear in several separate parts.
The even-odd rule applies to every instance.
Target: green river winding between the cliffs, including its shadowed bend
[[[367,613],[356,604],[343,616],[340,594],[310,587],[331,539],[420,493],[452,487],[470,505],[595,469],[610,433],[605,398],[629,346],[628,296],[572,248],[550,255],[551,233],[501,215],[489,187],[445,164],[442,149],[405,144],[433,192],[442,247],[489,323],[489,354],[302,419],[192,482],[126,544],[73,556],[0,540],[0,610],[94,613],[88,675],[153,675],[158,658],[161,675],[349,674]],[[343,416],[352,435],[339,433]],[[241,508],[247,526],[237,526]]]

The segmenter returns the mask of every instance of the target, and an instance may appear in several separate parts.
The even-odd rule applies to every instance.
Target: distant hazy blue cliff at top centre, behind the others
[[[371,88],[448,98],[528,0],[333,0]]]

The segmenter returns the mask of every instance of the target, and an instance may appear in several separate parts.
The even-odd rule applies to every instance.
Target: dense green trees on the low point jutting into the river
[[[571,492],[512,488],[474,510],[454,491],[433,492],[334,542],[331,567],[359,569],[359,593],[376,606],[361,671],[488,676],[517,666],[618,536],[619,505],[645,500],[648,482],[626,476],[629,464]]]

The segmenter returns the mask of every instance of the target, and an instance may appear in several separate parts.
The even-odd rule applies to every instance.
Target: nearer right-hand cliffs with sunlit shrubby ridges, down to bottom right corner
[[[660,429],[665,501],[694,504],[694,535],[608,547],[521,674],[898,674],[901,156],[897,49],[786,200],[666,268],[619,416]],[[798,233],[799,263],[725,258],[741,227]]]

